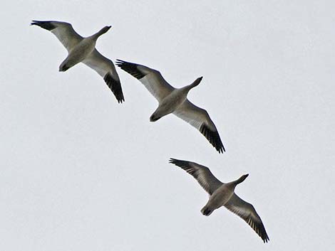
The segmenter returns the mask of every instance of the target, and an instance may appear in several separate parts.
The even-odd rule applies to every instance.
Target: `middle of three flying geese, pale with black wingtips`
[[[158,70],[123,60],[116,60],[116,65],[140,80],[156,100],[158,100],[158,108],[150,116],[151,122],[155,122],[167,114],[175,114],[180,119],[197,128],[219,153],[225,151],[225,147],[222,144],[215,124],[210,119],[210,115],[206,110],[193,105],[187,100],[187,93],[193,87],[200,84],[202,77],[197,78],[191,85],[174,88],[165,81]]]

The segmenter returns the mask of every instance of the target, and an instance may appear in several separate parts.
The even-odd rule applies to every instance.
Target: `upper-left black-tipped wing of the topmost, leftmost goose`
[[[74,31],[71,23],[59,22],[59,21],[35,21],[31,22],[32,26],[40,26],[48,31],[51,31],[63,46],[70,52],[70,50],[76,46],[83,37]]]

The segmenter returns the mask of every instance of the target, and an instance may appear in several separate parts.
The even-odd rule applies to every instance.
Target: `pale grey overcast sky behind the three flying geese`
[[[334,1],[5,1],[0,40],[1,250],[333,250]],[[118,68],[125,102],[31,20],[68,21],[103,55],[148,65],[205,108],[227,150]],[[170,157],[249,173],[263,244]]]

